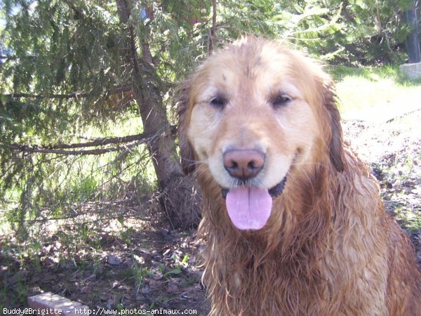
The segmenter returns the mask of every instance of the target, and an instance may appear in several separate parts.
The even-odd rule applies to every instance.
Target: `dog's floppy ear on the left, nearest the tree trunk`
[[[178,145],[180,146],[180,158],[182,170],[185,174],[194,171],[193,148],[187,139],[187,126],[190,121],[189,111],[190,80],[185,81],[178,91]]]

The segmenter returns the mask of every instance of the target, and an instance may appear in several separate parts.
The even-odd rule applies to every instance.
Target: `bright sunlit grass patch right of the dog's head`
[[[420,102],[421,79],[403,77],[399,67],[328,67],[336,81],[342,113],[368,107],[395,105],[408,100]]]

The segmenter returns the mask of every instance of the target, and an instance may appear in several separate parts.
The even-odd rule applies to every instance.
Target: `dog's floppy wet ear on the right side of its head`
[[[344,154],[342,149],[342,126],[340,125],[340,113],[336,101],[338,100],[332,81],[323,83],[323,105],[330,119],[330,162],[336,170],[344,170]]]

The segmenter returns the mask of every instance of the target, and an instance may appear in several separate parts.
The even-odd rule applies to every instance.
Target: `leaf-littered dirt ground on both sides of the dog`
[[[382,120],[346,119],[345,138],[380,181],[388,213],[412,239],[421,262],[421,111]],[[171,230],[159,216],[129,209],[138,226],[110,220],[95,232],[88,246],[66,244],[59,232],[33,254],[0,251],[0,305],[27,307],[26,297],[52,291],[88,305],[92,310],[173,310],[207,315],[209,303],[201,285],[196,255],[201,243],[195,231]],[[140,216],[142,214],[142,216]],[[116,230],[112,230],[113,225]],[[72,228],[60,228],[61,234]],[[115,231],[119,230],[119,233]],[[6,249],[6,241],[0,242]],[[13,239],[8,239],[13,244]],[[98,312],[97,312],[98,313]],[[113,312],[111,313],[111,315]]]

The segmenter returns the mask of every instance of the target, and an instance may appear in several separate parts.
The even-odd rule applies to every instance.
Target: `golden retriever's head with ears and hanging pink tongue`
[[[342,131],[329,77],[276,41],[249,37],[210,56],[180,93],[186,172],[205,164],[240,229],[265,225],[295,166],[342,171]]]

